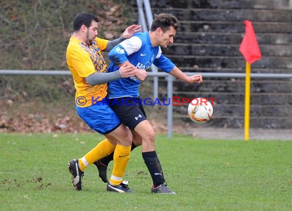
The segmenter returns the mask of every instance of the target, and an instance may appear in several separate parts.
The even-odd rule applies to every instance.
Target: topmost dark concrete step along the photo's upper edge
[[[135,3],[134,3],[135,4]],[[289,0],[156,0],[152,8],[291,9]]]

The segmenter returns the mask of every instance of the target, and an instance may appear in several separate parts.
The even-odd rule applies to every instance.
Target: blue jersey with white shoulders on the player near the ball
[[[159,46],[153,47],[148,32],[136,33],[131,38],[122,41],[110,53],[111,65],[108,72],[119,69],[117,65],[129,60],[137,69],[147,70],[152,64],[169,73],[175,65],[165,57]],[[135,76],[120,78],[108,83],[109,98],[138,97],[140,80]]]

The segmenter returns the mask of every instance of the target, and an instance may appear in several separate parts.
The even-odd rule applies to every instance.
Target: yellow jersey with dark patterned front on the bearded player
[[[66,53],[69,70],[76,89],[75,103],[78,107],[92,106],[108,94],[107,83],[91,86],[85,78],[95,72],[107,73],[108,67],[101,51],[105,50],[109,40],[95,38],[91,46],[71,37]]]

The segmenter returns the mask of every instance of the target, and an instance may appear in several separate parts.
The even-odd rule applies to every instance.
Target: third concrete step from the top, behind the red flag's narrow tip
[[[253,22],[255,33],[292,33],[291,23]],[[245,33],[243,22],[180,21],[180,32]]]

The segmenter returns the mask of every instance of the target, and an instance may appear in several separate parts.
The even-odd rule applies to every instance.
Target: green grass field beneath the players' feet
[[[103,137],[0,134],[0,210],[292,210],[292,140],[202,140],[157,135],[156,151],[177,195],[150,193],[140,147],[124,180],[135,194],[106,191],[89,166],[75,191],[67,163]],[[112,164],[108,175],[111,174]]]

